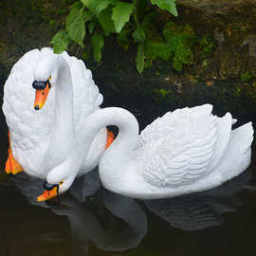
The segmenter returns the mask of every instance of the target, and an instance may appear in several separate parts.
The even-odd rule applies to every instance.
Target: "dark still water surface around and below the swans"
[[[145,123],[159,115],[146,112]],[[209,192],[134,200],[99,189],[94,172],[45,204],[43,181],[4,173],[5,124],[0,137],[0,256],[256,255],[255,147],[247,172]]]

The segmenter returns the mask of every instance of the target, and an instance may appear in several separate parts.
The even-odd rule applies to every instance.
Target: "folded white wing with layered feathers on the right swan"
[[[203,105],[178,109],[146,127],[139,137],[145,180],[157,187],[179,187],[209,174],[217,123],[211,106]],[[157,136],[150,138],[153,131]]]

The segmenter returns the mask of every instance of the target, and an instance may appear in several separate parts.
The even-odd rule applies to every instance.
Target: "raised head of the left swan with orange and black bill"
[[[42,53],[43,54],[43,53]],[[60,66],[64,63],[58,54],[44,54],[33,69],[35,91],[34,109],[40,110],[46,103],[50,89],[56,84]]]

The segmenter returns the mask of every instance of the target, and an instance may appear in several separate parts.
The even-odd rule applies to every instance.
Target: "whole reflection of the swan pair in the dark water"
[[[84,255],[90,242],[106,251],[138,247],[147,233],[143,204],[177,229],[192,231],[221,225],[224,223],[222,213],[242,206],[236,192],[245,188],[250,178],[248,170],[208,192],[138,201],[102,189],[99,174],[91,172],[77,179],[57,206],[38,203],[34,199],[42,188],[42,180],[26,174],[16,175],[13,180],[31,204],[51,208],[56,214],[68,217],[73,244]]]

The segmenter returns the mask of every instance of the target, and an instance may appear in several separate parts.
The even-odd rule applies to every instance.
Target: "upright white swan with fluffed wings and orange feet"
[[[37,89],[35,95],[32,83],[41,81],[48,71],[52,85],[57,86],[49,88],[48,83],[45,88]],[[51,48],[28,51],[13,65],[4,87],[3,111],[10,140],[7,173],[24,170],[46,179],[49,171],[63,163],[82,141],[84,122],[100,109],[102,100],[91,71],[81,60],[66,52],[54,54]],[[42,111],[35,110],[44,104]],[[106,129],[102,128],[77,174],[87,173],[98,165],[107,137]],[[56,193],[47,194],[51,197]]]

